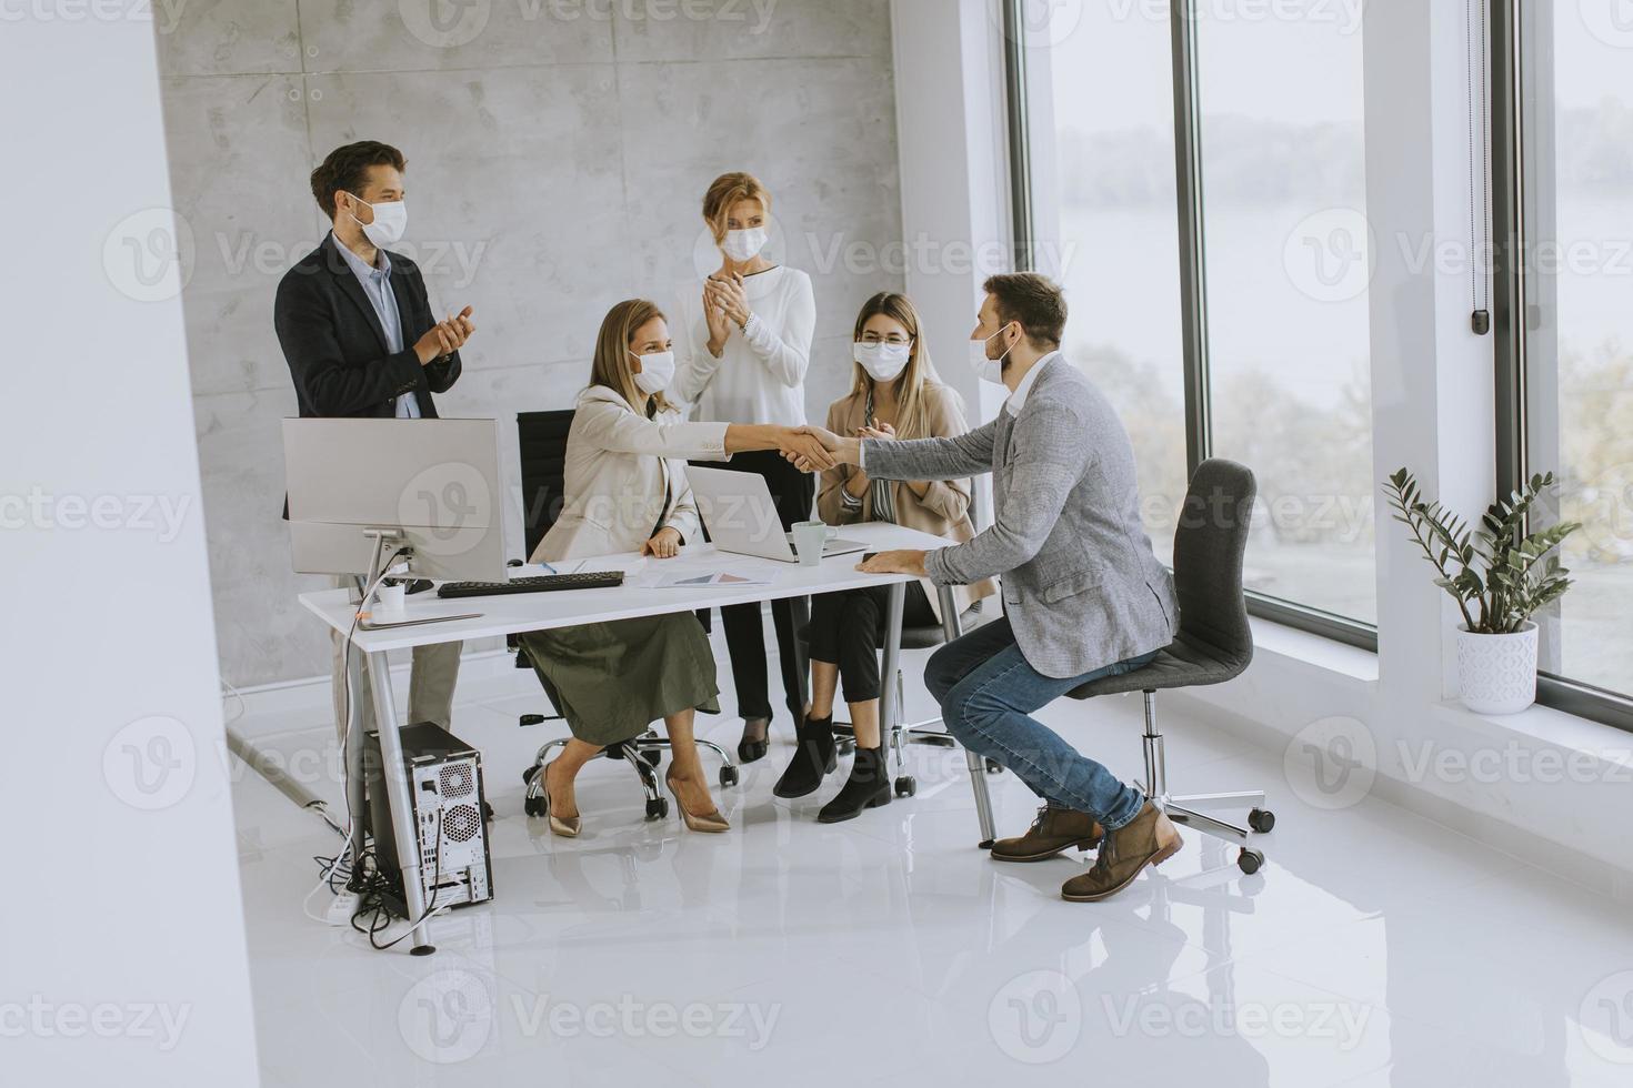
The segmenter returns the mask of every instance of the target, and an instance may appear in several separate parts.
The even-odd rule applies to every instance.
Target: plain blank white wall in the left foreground
[[[0,31],[0,1060],[16,1085],[237,1088],[258,1080],[248,964],[154,31],[134,10],[13,7]]]

